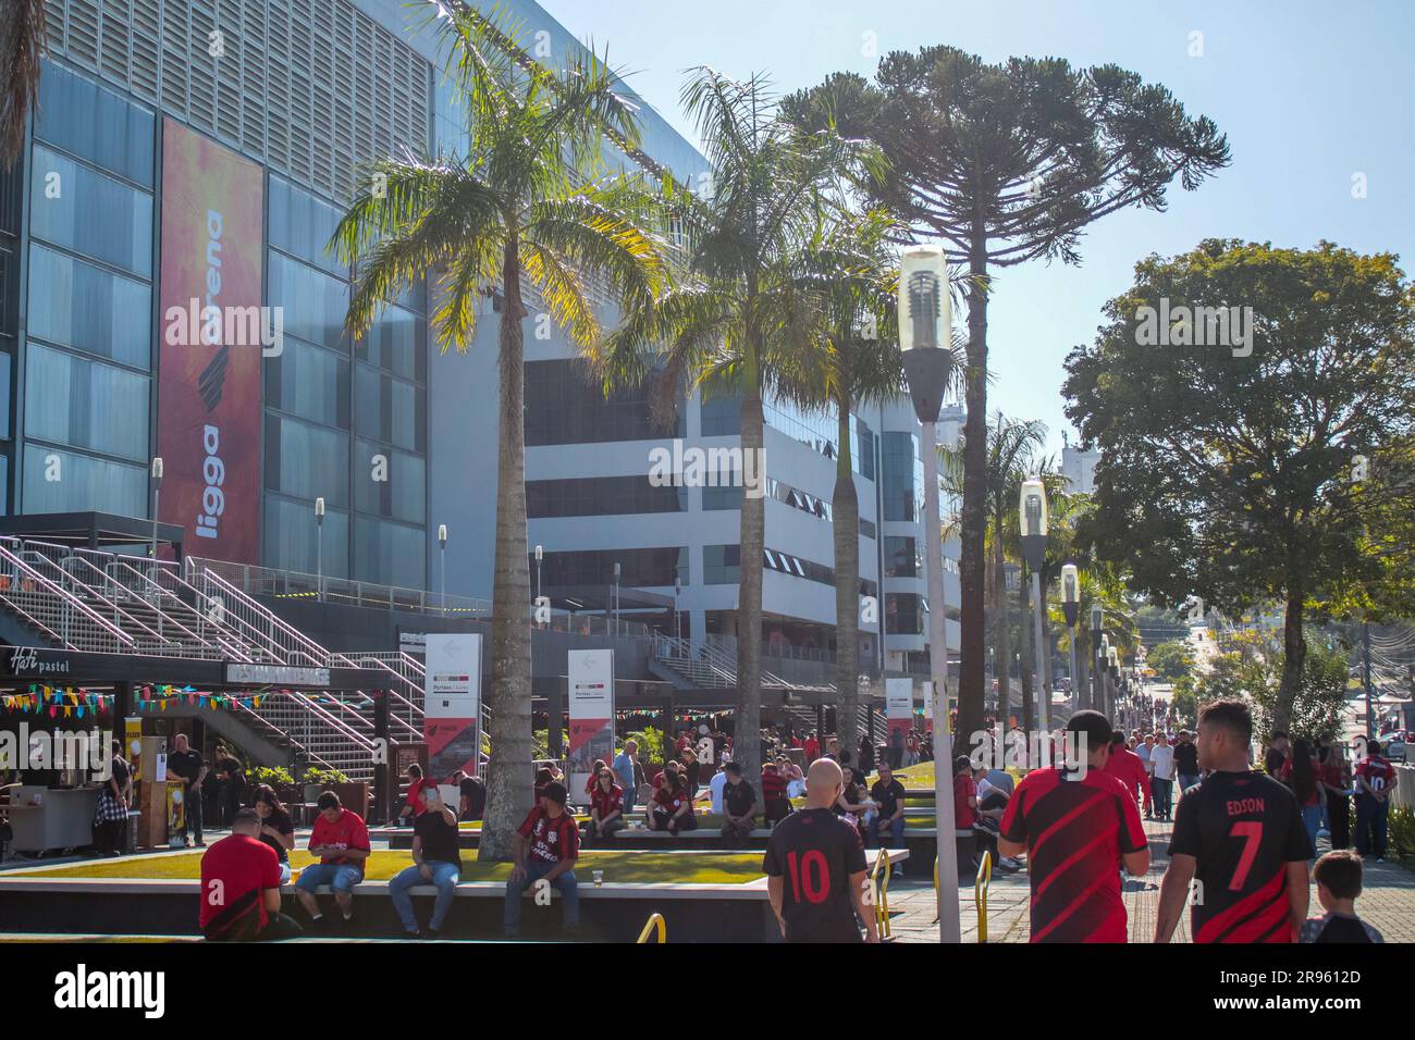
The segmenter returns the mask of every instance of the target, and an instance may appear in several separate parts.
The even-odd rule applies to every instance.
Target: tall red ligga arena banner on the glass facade
[[[192,556],[259,562],[260,167],[163,120],[160,519]]]

